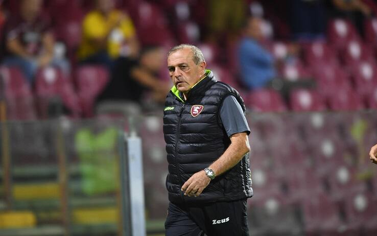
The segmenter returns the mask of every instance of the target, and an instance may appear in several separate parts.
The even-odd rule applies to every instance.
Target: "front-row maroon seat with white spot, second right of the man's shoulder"
[[[326,106],[318,92],[308,89],[295,89],[290,95],[291,108],[294,111],[323,111]]]

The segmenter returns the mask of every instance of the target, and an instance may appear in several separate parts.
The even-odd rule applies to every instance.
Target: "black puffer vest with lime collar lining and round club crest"
[[[244,102],[234,88],[217,82],[210,70],[206,70],[206,74],[192,88],[186,102],[175,87],[166,99],[163,115],[169,162],[166,187],[173,203],[234,201],[253,195],[249,154],[232,169],[211,180],[199,197],[187,197],[181,192],[185,181],[217,160],[230,144],[219,114],[224,99],[233,95],[245,111]]]

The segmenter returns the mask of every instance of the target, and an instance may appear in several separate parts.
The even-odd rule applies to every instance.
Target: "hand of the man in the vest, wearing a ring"
[[[210,181],[211,179],[205,175],[204,171],[199,171],[182,185],[181,191],[189,197],[198,197]]]

